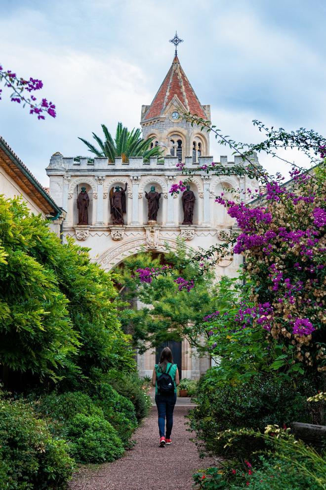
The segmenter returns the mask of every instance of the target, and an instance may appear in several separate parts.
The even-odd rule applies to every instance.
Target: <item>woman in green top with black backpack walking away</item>
[[[152,385],[155,386],[155,402],[159,414],[160,447],[171,444],[173,410],[176,402],[176,387],[179,384],[179,371],[173,364],[171,349],[162,350],[160,363],[155,364]],[[166,432],[165,432],[166,418]]]

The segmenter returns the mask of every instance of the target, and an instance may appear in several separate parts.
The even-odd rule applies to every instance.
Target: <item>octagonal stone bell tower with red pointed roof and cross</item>
[[[164,156],[177,156],[179,162],[191,156],[195,163],[209,155],[209,133],[186,122],[182,114],[191,112],[210,120],[210,105],[200,103],[181,67],[177,46],[182,41],[177,33],[170,40],[175,46],[172,65],[151,105],[142,106],[140,125],[143,138],[154,137],[151,145],[162,147]]]

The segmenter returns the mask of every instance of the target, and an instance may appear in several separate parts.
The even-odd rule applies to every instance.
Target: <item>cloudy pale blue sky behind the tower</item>
[[[86,154],[105,123],[139,125],[178,55],[212,120],[235,140],[258,141],[252,119],[326,134],[325,0],[0,0],[0,64],[40,78],[57,117],[38,121],[0,101],[0,134],[47,185],[50,155]],[[231,150],[211,139],[214,159]],[[289,158],[296,158],[296,154]],[[272,172],[285,167],[261,157]]]

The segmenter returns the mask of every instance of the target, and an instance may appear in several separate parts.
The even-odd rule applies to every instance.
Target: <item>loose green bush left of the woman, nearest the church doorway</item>
[[[136,374],[111,370],[103,379],[107,380],[119,394],[132,402],[138,422],[149,414],[152,406],[151,398],[143,390],[142,381]]]

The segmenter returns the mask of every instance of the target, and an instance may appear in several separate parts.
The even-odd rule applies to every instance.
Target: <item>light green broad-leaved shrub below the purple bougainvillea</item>
[[[239,278],[224,276],[218,283],[218,311],[204,323],[208,351],[219,364],[215,383],[218,377],[221,385],[245,382],[257,372],[270,371],[276,356],[282,355],[282,348],[268,343],[266,331],[253,326],[250,314],[244,313],[253,306],[252,290],[253,284],[242,272]]]

